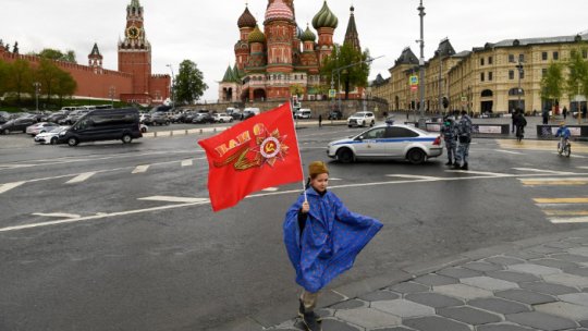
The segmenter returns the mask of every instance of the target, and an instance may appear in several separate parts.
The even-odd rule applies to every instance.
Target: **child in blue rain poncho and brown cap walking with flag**
[[[324,162],[313,162],[308,170],[307,189],[285,216],[284,244],[296,270],[296,283],[304,290],[298,315],[308,330],[316,331],[320,324],[314,308],[320,290],[352,268],[382,223],[350,211],[327,191],[329,170]]]

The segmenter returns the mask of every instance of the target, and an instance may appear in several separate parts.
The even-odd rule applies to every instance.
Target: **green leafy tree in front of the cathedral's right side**
[[[335,45],[333,52],[324,59],[320,74],[324,81],[334,82],[334,84],[339,84],[341,78],[346,100],[350,97],[350,90],[368,85],[369,58],[369,50],[362,52],[352,45]]]

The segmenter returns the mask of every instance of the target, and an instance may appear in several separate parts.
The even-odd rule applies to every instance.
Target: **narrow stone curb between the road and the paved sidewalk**
[[[492,256],[503,254],[518,254],[519,256],[525,256],[526,254],[522,250],[526,248],[567,237],[588,237],[588,229],[565,231],[539,237],[525,238],[517,242],[504,243],[495,246],[465,252],[454,256],[438,258],[433,261],[418,262],[414,265],[406,265],[400,268],[393,268],[359,281],[354,281],[334,289],[324,290],[321,293],[321,297],[317,308],[327,308],[378,290],[382,290],[396,285],[399,283],[416,279],[425,274],[437,272],[445,268],[489,258]],[[253,316],[247,316],[240,320],[235,320],[230,323],[208,330],[266,330],[267,328],[275,327],[280,323],[283,323],[284,321],[296,318],[296,304],[297,303],[295,303],[295,301],[291,301],[289,303],[273,305],[272,307],[265,308]]]

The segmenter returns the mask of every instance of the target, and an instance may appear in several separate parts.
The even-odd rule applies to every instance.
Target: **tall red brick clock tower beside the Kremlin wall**
[[[151,45],[143,25],[143,7],[132,0],[126,7],[124,40],[119,41],[119,71],[133,74],[134,94],[149,94]]]

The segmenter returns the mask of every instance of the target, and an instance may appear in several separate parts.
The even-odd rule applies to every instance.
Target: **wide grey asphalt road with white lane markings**
[[[304,163],[328,160],[326,144],[356,132],[301,128]],[[0,330],[205,330],[295,309],[282,221],[302,184],[213,213],[203,137],[75,148],[0,137]],[[330,189],[384,224],[333,286],[586,228],[581,217],[552,221],[588,204],[552,199],[586,198],[588,147],[563,158],[549,144],[477,139],[469,172],[448,171],[444,156],[417,167],[329,161]]]

